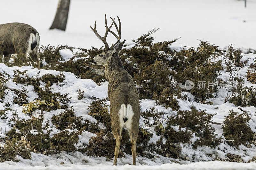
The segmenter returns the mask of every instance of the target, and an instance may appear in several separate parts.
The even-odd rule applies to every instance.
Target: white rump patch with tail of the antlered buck
[[[132,126],[132,116],[134,115],[132,106],[130,104],[125,106],[125,104],[122,104],[120,107],[120,110],[118,112],[119,115],[119,121],[120,121],[120,127],[126,127],[128,130],[131,129]],[[126,120],[126,122],[124,122]]]

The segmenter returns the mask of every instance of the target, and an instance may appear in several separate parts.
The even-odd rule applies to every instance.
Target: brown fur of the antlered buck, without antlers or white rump
[[[118,56],[124,41],[112,45],[107,52],[103,52],[92,59],[95,64],[105,67],[105,76],[108,80],[108,98],[110,101],[111,127],[116,138],[116,149],[114,165],[116,165],[119,148],[122,140],[122,129],[119,120],[119,110],[122,104],[130,104],[133,110],[132,126],[127,129],[131,138],[131,149],[133,165],[136,165],[136,140],[139,133],[140,104],[139,94],[132,80],[132,76],[124,69],[124,66]],[[114,49],[116,47],[116,49]],[[99,61],[100,63],[97,63]]]

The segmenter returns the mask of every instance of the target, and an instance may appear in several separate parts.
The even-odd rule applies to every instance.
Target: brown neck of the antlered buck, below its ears
[[[105,76],[107,80],[109,81],[109,79],[112,77],[111,75],[114,75],[122,70],[124,70],[123,63],[121,62],[118,54],[115,53],[108,59],[105,65]]]

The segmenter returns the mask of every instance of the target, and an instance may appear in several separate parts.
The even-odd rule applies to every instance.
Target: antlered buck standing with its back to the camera
[[[111,18],[113,21],[112,24],[108,27],[105,15],[106,33],[104,37],[101,37],[97,33],[96,21],[94,28],[90,26],[92,31],[105,44],[104,52],[95,56],[91,63],[103,65],[105,67],[105,76],[108,80],[111,127],[114,137],[116,138],[114,165],[116,165],[122,140],[121,132],[124,127],[127,128],[131,139],[133,165],[136,165],[136,140],[139,132],[140,119],[139,94],[132,80],[132,76],[124,69],[121,59],[118,56],[118,52],[123,47],[125,40],[123,42],[120,41],[121,22],[118,16],[117,18],[119,27],[117,27],[113,18]],[[113,23],[116,26],[118,36],[110,30]],[[117,42],[110,48],[108,48],[106,41],[108,32],[112,33],[117,38]]]

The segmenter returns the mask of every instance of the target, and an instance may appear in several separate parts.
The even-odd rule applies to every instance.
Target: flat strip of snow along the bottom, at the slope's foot
[[[70,157],[69,157],[70,158]],[[44,160],[44,161],[50,161],[50,160]],[[57,161],[57,162],[55,162]],[[83,164],[62,164],[62,165],[56,165],[57,163],[60,164],[60,161],[57,160],[51,160],[51,163],[49,166],[42,166],[45,165],[44,162],[41,162],[38,165],[35,166],[28,166],[24,164],[20,164],[20,166],[13,166],[14,162],[11,162],[10,164],[8,163],[2,163],[1,168],[5,170],[32,170],[32,169],[38,169],[38,170],[82,170],[82,169],[87,169],[87,170],[118,170],[118,169],[124,169],[124,170],[218,170],[218,169],[228,169],[228,170],[238,170],[238,169],[243,169],[243,170],[252,170],[256,169],[256,163],[236,163],[236,162],[221,162],[221,161],[208,161],[208,162],[196,162],[196,163],[191,163],[191,164],[177,164],[177,163],[165,163],[162,165],[150,165],[150,164],[145,164],[145,165],[137,165],[137,166],[132,166],[132,165],[124,165],[124,166],[112,166],[110,163],[108,164],[103,164],[100,162],[100,160],[94,160],[94,164],[97,164],[97,166],[90,166],[91,163],[88,163],[88,158],[82,158],[80,160]],[[147,160],[144,160],[145,163],[147,163]],[[18,163],[19,164],[19,163]]]

